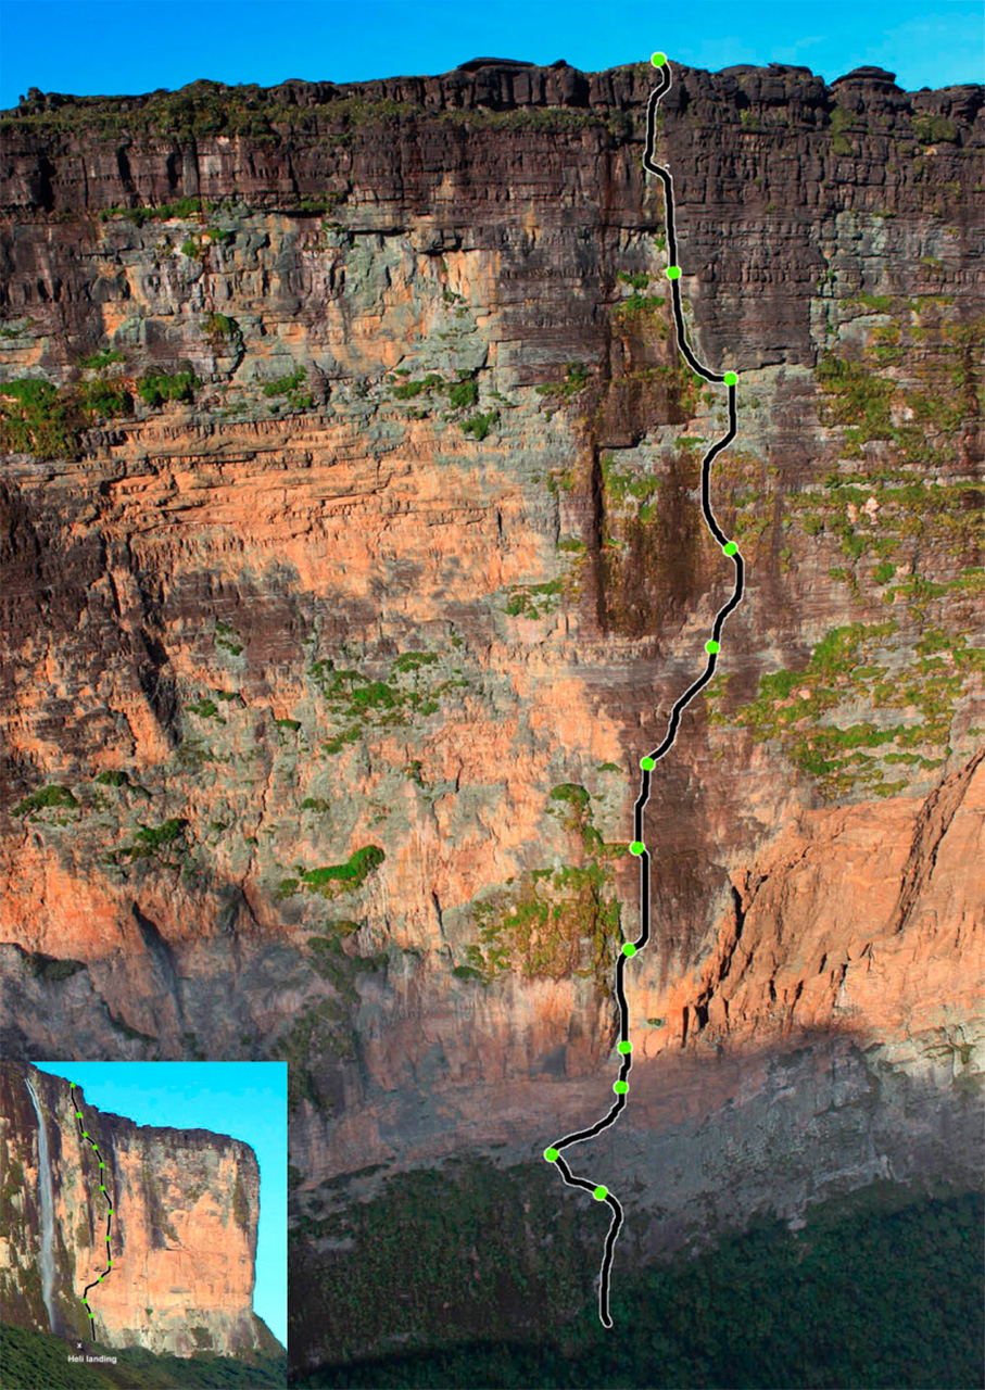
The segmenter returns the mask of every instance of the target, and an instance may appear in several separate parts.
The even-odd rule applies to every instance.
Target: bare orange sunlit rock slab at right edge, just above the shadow
[[[964,1041],[985,963],[984,834],[982,755],[925,802],[802,813],[734,881],[703,969],[638,1001],[636,1016],[667,1016],[646,1049],[831,1027]]]

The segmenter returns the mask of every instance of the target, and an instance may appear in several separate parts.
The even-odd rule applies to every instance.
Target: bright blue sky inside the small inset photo
[[[285,1062],[36,1062],[90,1105],[136,1125],[207,1129],[245,1140],[260,1163],[253,1307],[288,1336],[288,1066]]]

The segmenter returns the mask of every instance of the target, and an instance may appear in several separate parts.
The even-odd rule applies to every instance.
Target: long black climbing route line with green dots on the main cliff
[[[681,303],[681,268],[677,263],[677,228],[674,225],[674,179],[670,170],[663,168],[656,163],[654,149],[656,149],[656,135],[657,135],[657,107],[660,106],[661,97],[670,90],[672,79],[670,64],[667,63],[664,54],[654,53],[652,58],[653,65],[659,71],[659,81],[646,107],[646,149],[643,153],[643,168],[647,174],[656,175],[663,183],[664,189],[664,206],[667,213],[667,278],[671,282],[671,297],[674,306],[674,322],[677,327],[677,346],[678,352],[688,363],[692,371],[704,381],[715,382],[728,388],[728,430],[717,439],[715,443],[704,455],[702,460],[702,514],[704,517],[704,524],[707,525],[711,535],[715,538],[718,545],[722,548],[724,553],[732,560],[735,571],[735,585],[732,588],[732,596],[729,600],[718,610],[715,614],[714,624],[711,627],[711,637],[704,644],[707,652],[707,662],[704,670],[692,681],[688,689],[681,695],[671,709],[670,720],[667,723],[667,733],[664,734],[661,742],[653,749],[652,753],[640,758],[642,778],[639,787],[639,796],[634,808],[634,842],[629,847],[634,855],[639,856],[639,935],[635,942],[625,942],[622,945],[621,954],[615,960],[615,1001],[620,1009],[620,1036],[617,1049],[620,1052],[620,1074],[614,1084],[615,1101],[610,1111],[590,1129],[577,1130],[574,1134],[565,1134],[564,1138],[558,1140],[550,1148],[545,1151],[545,1158],[557,1166],[561,1177],[568,1184],[568,1187],[581,1187],[597,1201],[604,1201],[610,1208],[613,1216],[609,1225],[609,1233],[606,1236],[606,1245],[602,1257],[602,1269],[599,1272],[599,1318],[603,1327],[611,1327],[613,1319],[609,1311],[609,1290],[613,1269],[613,1255],[615,1251],[615,1241],[622,1226],[622,1207],[615,1197],[603,1186],[590,1183],[585,1177],[577,1177],[568,1163],[561,1156],[565,1148],[571,1148],[574,1144],[583,1144],[585,1140],[595,1138],[596,1134],[602,1134],[607,1130],[610,1125],[615,1123],[618,1115],[625,1109],[628,1081],[627,1077],[632,1069],[632,1044],[629,1042],[629,1005],[627,1004],[624,979],[627,960],[636,955],[647,941],[650,940],[650,855],[643,842],[643,815],[646,810],[646,803],[650,799],[650,773],[667,753],[674,746],[678,730],[681,727],[681,714],[690,705],[695,696],[704,689],[711,677],[714,676],[715,666],[718,662],[718,651],[721,648],[721,634],[727,619],[742,602],[742,595],[745,592],[745,563],[739,555],[739,548],[734,541],[729,541],[721,527],[715,520],[715,514],[711,509],[711,464],[717,456],[727,449],[728,445],[735,438],[736,432],[736,385],[738,375],[734,371],[715,373],[710,371],[703,363],[697,360],[688,342],[688,334],[684,324],[684,309]]]

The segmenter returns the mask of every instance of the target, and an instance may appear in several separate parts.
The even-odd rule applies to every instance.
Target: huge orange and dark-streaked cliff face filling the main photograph
[[[729,573],[649,86],[197,83],[4,126],[6,375],[60,386],[7,398],[7,1041],[288,1058],[304,1222],[347,1173],[520,1163],[611,1095],[638,758]],[[685,70],[664,108],[749,580],[654,783],[640,1068],[597,1154],[615,1186],[665,1133],[707,1176],[711,1126],[732,1218],[767,1115],[791,1211],[966,1180],[982,90]],[[835,1116],[810,1143],[803,1095]],[[640,1251],[695,1200],[661,1191]],[[303,1326],[317,1359],[321,1304]]]

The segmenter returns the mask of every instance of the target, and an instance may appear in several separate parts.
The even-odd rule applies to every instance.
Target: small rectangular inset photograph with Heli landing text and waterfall
[[[6,1390],[286,1384],[283,1062],[4,1062]]]

